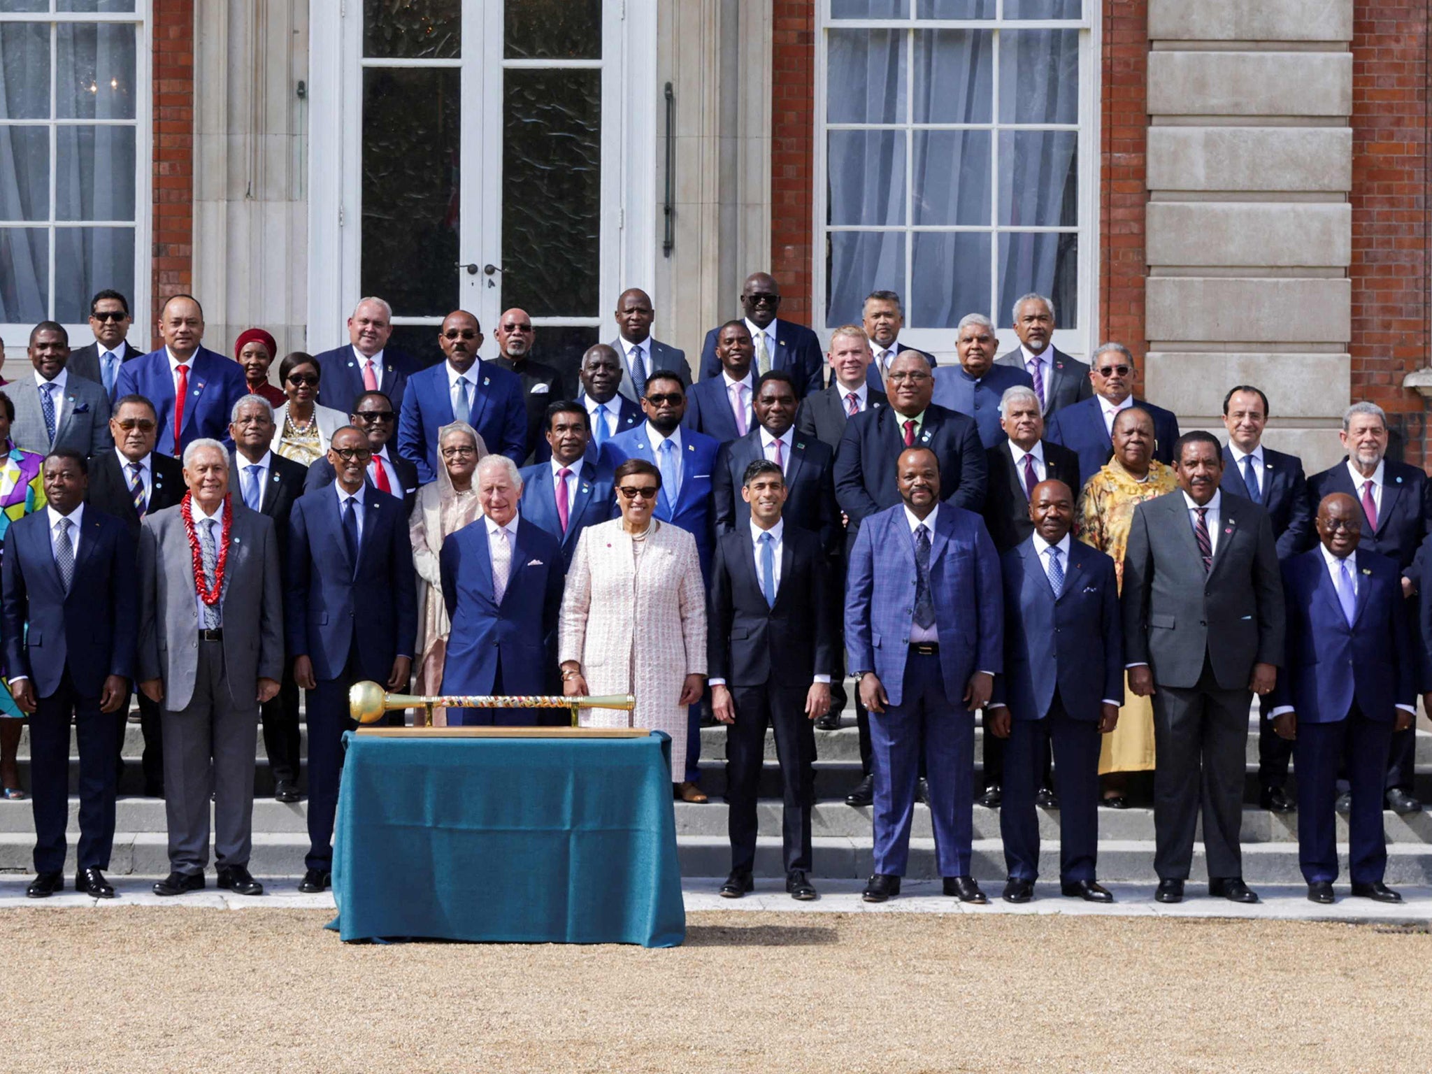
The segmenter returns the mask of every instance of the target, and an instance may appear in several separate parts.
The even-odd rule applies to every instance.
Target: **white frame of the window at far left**
[[[150,0],[135,0],[133,11],[57,11],[56,0],[50,0],[49,11],[3,11],[0,23],[120,23],[135,26],[137,40],[135,43],[135,119],[127,120],[95,120],[95,119],[54,119],[54,79],[57,76],[54,63],[56,36],[50,34],[50,119],[20,119],[4,120],[6,126],[43,126],[50,130],[50,211],[44,221],[6,221],[4,228],[44,228],[50,233],[50,309],[54,309],[54,238],[60,228],[95,228],[109,225],[127,225],[127,221],[56,221],[54,219],[54,183],[59,172],[54,168],[54,145],[57,129],[62,126],[127,126],[135,123],[135,286],[129,299],[129,312],[133,315],[130,335],[139,332],[139,349],[149,349],[153,318],[149,314],[152,292],[153,266],[153,189],[150,178],[153,175],[153,21],[150,19]],[[90,295],[84,296],[86,304]],[[6,341],[6,354],[24,354],[29,348],[30,329],[34,325],[0,324],[0,337]],[[70,348],[87,347],[95,342],[89,321],[80,324],[66,324],[64,331],[70,337]],[[133,341],[130,341],[133,344]]]

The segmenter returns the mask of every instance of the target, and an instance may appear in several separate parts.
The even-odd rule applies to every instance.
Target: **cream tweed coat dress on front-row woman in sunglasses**
[[[687,674],[706,674],[706,590],[696,541],[652,521],[633,541],[621,520],[589,527],[577,541],[561,599],[561,663],[577,660],[591,695],[636,696],[633,725],[672,736],[676,770],[686,758]],[[583,727],[624,727],[619,709],[584,709]]]

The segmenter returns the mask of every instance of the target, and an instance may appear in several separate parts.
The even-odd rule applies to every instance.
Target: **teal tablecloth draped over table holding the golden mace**
[[[672,740],[344,736],[342,939],[674,947]]]

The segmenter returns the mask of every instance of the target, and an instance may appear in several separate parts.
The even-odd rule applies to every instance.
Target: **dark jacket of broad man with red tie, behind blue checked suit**
[[[891,407],[851,418],[835,453],[835,498],[856,527],[899,500],[895,460],[905,450],[904,418]],[[915,440],[939,460],[939,498],[978,513],[985,497],[985,458],[974,418],[931,404]]]

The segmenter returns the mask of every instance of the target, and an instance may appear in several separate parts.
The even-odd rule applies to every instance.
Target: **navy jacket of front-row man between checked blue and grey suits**
[[[994,700],[1017,720],[1048,716],[1060,702],[1075,720],[1097,720],[1104,699],[1124,700],[1124,644],[1114,561],[1070,540],[1064,589],[1050,589],[1032,537],[1000,557],[1004,574],[1004,673]]]

